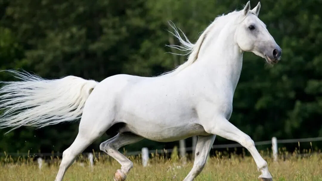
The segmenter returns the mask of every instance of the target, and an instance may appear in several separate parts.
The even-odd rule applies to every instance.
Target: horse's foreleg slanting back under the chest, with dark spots
[[[216,135],[211,136],[198,136],[198,141],[195,149],[194,155],[194,166],[192,167],[189,174],[185,177],[184,181],[193,181],[197,177],[204,165],[206,164],[207,157],[211,147],[213,146],[213,141]]]

